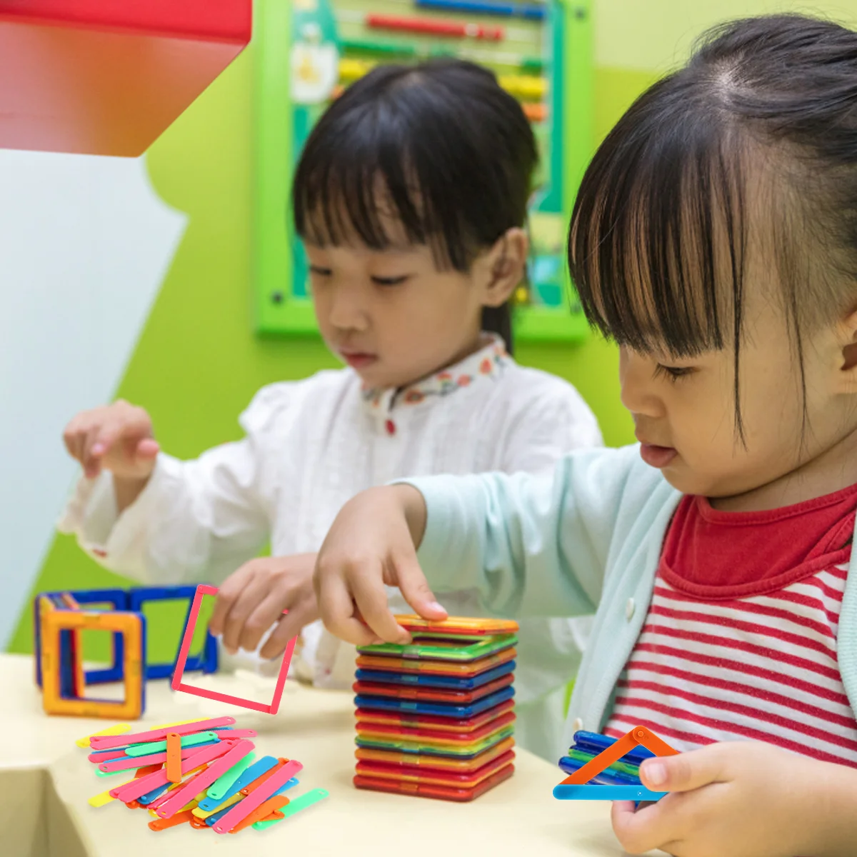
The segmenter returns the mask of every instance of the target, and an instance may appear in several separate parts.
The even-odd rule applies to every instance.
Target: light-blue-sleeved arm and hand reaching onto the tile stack
[[[359,494],[319,554],[321,617],[353,643],[406,639],[384,584],[398,585],[427,618],[442,614],[432,589],[479,590],[501,615],[592,613],[616,521],[636,519],[647,500],[663,502],[652,495],[666,483],[635,468],[638,460],[633,447],[587,450],[563,458],[549,476],[431,476]],[[632,471],[637,478],[629,479]]]

